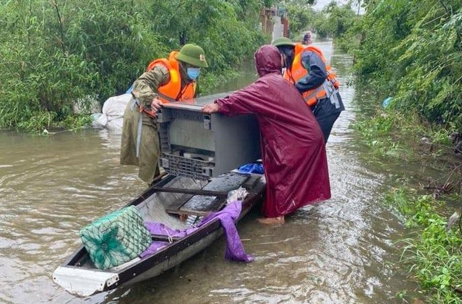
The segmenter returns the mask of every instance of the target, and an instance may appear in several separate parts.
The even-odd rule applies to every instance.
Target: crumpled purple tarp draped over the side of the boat
[[[212,212],[204,217],[196,227],[185,230],[171,229],[170,227],[158,222],[145,222],[145,224],[152,235],[161,235],[167,238],[182,238],[195,232],[208,222],[218,218],[221,221],[221,226],[223,227],[224,235],[226,237],[226,252],[224,257],[227,260],[251,262],[253,261],[253,257],[245,253],[244,246],[242,245],[235,224],[239,214],[241,214],[241,208],[241,201],[228,203],[222,210]],[[140,254],[140,257],[144,258],[155,254],[167,245],[169,245],[169,242],[154,241],[144,252]]]

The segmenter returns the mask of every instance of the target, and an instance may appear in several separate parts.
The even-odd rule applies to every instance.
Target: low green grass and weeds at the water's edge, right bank
[[[416,111],[378,109],[372,117],[366,113],[359,115],[354,128],[358,140],[370,148],[377,161],[417,164],[404,166],[422,170],[406,171],[398,177],[400,184],[403,179],[420,176],[424,168],[440,172],[439,176],[409,178],[407,184],[389,191],[385,201],[399,211],[408,227],[409,237],[397,245],[402,248],[403,265],[422,288],[417,296],[428,297],[430,303],[462,303],[460,221],[452,230],[445,230],[449,215],[454,210],[460,213],[462,164],[452,155],[446,130],[422,123]],[[406,299],[415,294],[403,291],[401,296]]]

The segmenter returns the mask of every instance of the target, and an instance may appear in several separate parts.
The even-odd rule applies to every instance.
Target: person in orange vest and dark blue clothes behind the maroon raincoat
[[[272,45],[284,56],[284,78],[311,107],[327,142],[334,122],[345,109],[334,71],[321,50],[313,45],[295,44],[286,37],[275,39]]]

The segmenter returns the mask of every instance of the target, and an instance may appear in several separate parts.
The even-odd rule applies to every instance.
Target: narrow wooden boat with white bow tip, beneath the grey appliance
[[[128,205],[138,208],[144,221],[161,222],[173,229],[187,229],[210,212],[225,206],[230,190],[240,186],[248,191],[242,202],[242,218],[264,194],[264,179],[259,174],[228,172],[210,182],[165,175]],[[171,243],[157,253],[135,258],[109,270],[95,267],[84,246],[76,250],[53,273],[53,281],[74,295],[88,296],[122,285],[140,282],[175,267],[207,248],[222,234],[218,218]],[[166,240],[152,236],[153,240]]]

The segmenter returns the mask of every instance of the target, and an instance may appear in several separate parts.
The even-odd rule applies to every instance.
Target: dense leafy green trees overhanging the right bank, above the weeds
[[[361,80],[395,96],[397,110],[462,130],[460,0],[369,1],[357,34]]]

